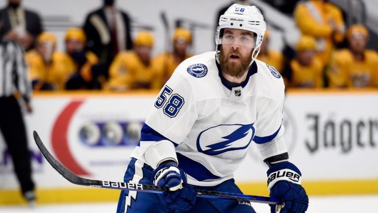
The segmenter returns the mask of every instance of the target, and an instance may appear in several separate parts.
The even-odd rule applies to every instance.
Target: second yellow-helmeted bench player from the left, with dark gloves
[[[97,76],[92,73],[92,66],[98,62],[97,56],[84,49],[86,36],[80,28],[70,28],[65,37],[65,53],[67,71],[70,78],[65,83],[65,88],[71,89],[94,89],[98,86]]]

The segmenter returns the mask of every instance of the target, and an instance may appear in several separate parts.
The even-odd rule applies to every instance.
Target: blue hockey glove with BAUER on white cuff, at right
[[[267,171],[270,196],[281,198],[284,208],[280,213],[304,213],[309,206],[309,197],[301,185],[301,172],[290,162],[273,164]],[[270,212],[276,213],[275,205]]]

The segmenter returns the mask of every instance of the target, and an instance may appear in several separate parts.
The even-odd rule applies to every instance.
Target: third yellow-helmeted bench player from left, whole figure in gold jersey
[[[118,53],[110,65],[108,89],[160,89],[161,73],[151,60],[153,45],[151,32],[139,32],[133,41],[133,51]]]

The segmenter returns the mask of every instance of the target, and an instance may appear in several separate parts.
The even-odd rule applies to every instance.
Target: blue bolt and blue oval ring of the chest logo
[[[219,126],[221,126],[221,125],[219,125]],[[229,125],[229,126],[234,126],[234,125]],[[240,125],[239,124],[238,126],[240,126],[240,127],[237,130],[235,130],[234,132],[232,132],[231,134],[224,136],[224,137],[221,137],[221,139],[225,139],[225,141],[207,145],[205,147],[207,147],[209,149],[206,149],[206,150],[202,150],[202,148],[199,144],[199,139],[200,139],[202,133],[204,133],[205,131],[207,131],[211,128],[201,132],[198,135],[198,138],[197,138],[197,149],[198,149],[198,151],[203,152],[203,153],[208,154],[208,155],[218,155],[218,154],[221,154],[221,153],[224,153],[224,152],[227,152],[227,151],[247,148],[248,145],[252,142],[252,138],[254,136],[255,130],[254,130],[253,124],[246,124],[246,125]],[[215,128],[215,127],[212,127],[212,128]],[[248,133],[250,133],[250,130],[252,130],[252,137],[249,140],[248,144],[246,144],[245,146],[241,146],[241,147],[234,147],[233,146],[233,147],[227,148],[229,146],[235,145],[235,144],[233,144],[233,142],[237,142],[237,141],[245,138],[248,135]]]

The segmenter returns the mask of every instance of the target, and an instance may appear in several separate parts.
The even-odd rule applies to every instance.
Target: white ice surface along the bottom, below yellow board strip
[[[378,195],[310,197],[307,213],[378,213]],[[257,213],[270,213],[266,204],[253,204]],[[0,213],[115,213],[117,203],[1,206]]]

